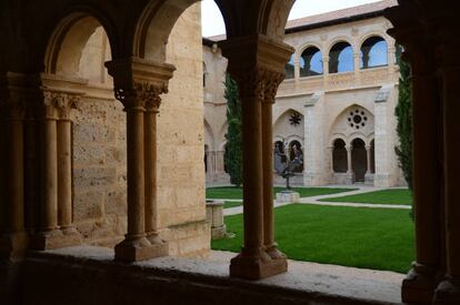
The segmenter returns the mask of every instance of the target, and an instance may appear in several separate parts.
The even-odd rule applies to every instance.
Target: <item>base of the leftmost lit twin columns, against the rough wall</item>
[[[81,244],[80,234],[74,232],[63,233],[61,230],[38,232],[31,237],[30,247],[38,251],[54,250]]]

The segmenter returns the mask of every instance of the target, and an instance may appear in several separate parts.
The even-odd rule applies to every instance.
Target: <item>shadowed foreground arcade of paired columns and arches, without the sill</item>
[[[176,70],[167,62],[168,38],[194,2],[0,2],[1,276],[10,275],[11,265],[30,260],[32,250],[81,243],[72,228],[68,118],[81,91],[62,91],[58,75],[86,73],[76,57],[94,34],[103,37],[103,60],[121,103],[117,110],[121,113],[122,105],[126,112],[128,226],[124,240],[114,247],[114,258],[132,263],[168,254],[167,241],[157,233],[157,177],[162,165],[157,162],[157,116]],[[230,276],[260,279],[288,268],[273,234],[271,152],[272,103],[294,52],[282,42],[293,0],[216,2],[227,27],[227,40],[220,47],[229,60],[228,72],[239,84],[243,116],[244,236],[241,253],[231,260]],[[400,0],[399,4],[386,16],[393,24],[390,34],[404,47],[404,58],[412,64],[417,248],[413,268],[402,284],[402,298],[408,303],[459,304],[459,10],[456,1]],[[73,32],[77,29],[78,34]],[[337,61],[341,55],[353,55],[350,48],[346,42],[331,47],[329,72],[341,70]],[[201,62],[198,67],[202,69]],[[324,70],[324,74],[329,72]],[[99,71],[90,79],[111,85],[104,75],[106,71]],[[201,71],[199,75],[201,83]],[[192,119],[182,118],[181,124]],[[198,119],[201,124],[202,118]],[[181,139],[183,143],[187,140]],[[342,144],[337,144],[341,154]],[[357,154],[362,153],[361,140],[352,144],[360,148]],[[203,143],[199,146],[202,150]],[[202,153],[197,164],[203,170]],[[7,285],[1,288],[17,293]]]

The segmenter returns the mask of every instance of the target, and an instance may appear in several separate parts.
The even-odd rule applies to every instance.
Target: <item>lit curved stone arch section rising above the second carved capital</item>
[[[153,62],[166,61],[169,35],[179,17],[199,0],[151,0],[136,27],[133,54]]]

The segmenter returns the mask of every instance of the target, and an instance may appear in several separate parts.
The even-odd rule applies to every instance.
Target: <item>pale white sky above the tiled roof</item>
[[[361,6],[379,0],[297,0],[289,20],[307,16]],[[222,16],[213,0],[201,2],[201,20],[203,37],[226,33]]]

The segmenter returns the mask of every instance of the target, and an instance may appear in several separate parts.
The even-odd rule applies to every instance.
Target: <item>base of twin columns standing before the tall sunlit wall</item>
[[[147,237],[126,238],[116,245],[114,251],[116,261],[131,263],[168,255],[168,244],[151,244]]]

